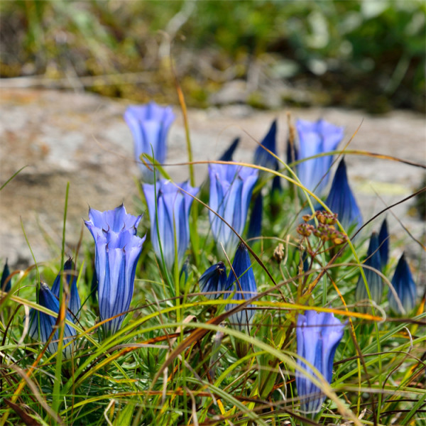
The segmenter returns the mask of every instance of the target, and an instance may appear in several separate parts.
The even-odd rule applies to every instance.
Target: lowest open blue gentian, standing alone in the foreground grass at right
[[[328,383],[332,383],[334,354],[342,340],[344,326],[345,324],[334,318],[332,313],[308,310],[305,315],[298,315],[297,355],[302,359],[297,358],[297,364],[306,371],[306,374],[320,380],[304,360],[317,368]],[[318,413],[325,400],[321,389],[299,371],[296,371],[296,387],[302,412]]]

